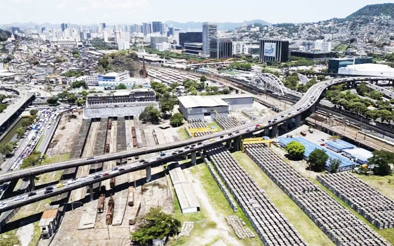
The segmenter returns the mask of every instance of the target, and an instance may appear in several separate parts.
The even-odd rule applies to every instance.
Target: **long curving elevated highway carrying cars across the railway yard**
[[[125,151],[125,152],[119,152],[119,153],[113,153],[113,154],[104,154],[104,155],[99,155],[95,157],[88,157],[88,158],[83,158],[83,159],[75,159],[75,160],[70,160],[70,161],[65,161],[65,162],[60,162],[60,163],[55,163],[55,164],[49,164],[49,165],[44,165],[44,166],[37,166],[33,168],[28,168],[28,169],[23,169],[23,170],[18,170],[18,171],[12,171],[12,172],[7,172],[5,174],[0,175],[0,183],[4,183],[7,181],[12,181],[15,179],[22,179],[22,178],[28,178],[31,181],[34,180],[34,176],[46,172],[52,172],[55,170],[61,170],[61,169],[66,169],[70,167],[76,167],[76,166],[83,166],[83,165],[88,165],[88,164],[93,164],[93,163],[98,163],[98,162],[103,162],[103,161],[109,161],[109,160],[115,160],[115,159],[121,159],[121,163],[123,163],[122,159],[134,156],[134,155],[141,155],[141,154],[149,154],[149,153],[157,153],[160,151],[165,152],[165,156],[156,156],[154,158],[144,160],[143,162],[134,162],[131,164],[125,164],[125,165],[120,165],[118,166],[119,170],[122,169],[121,171],[115,171],[111,172],[108,175],[104,175],[104,173],[110,171],[110,170],[104,170],[101,172],[96,173],[97,178],[95,179],[94,176],[88,176],[85,178],[82,178],[80,182],[76,182],[74,184],[68,185],[66,188],[54,188],[54,192],[47,193],[45,194],[45,189],[40,189],[37,190],[37,195],[35,195],[33,198],[26,198],[27,195],[23,195],[22,199],[20,197],[15,198],[9,198],[6,200],[1,201],[0,205],[0,212],[2,211],[7,211],[11,210],[13,208],[17,208],[29,203],[33,203],[38,200],[45,199],[47,197],[53,196],[55,194],[59,193],[64,193],[72,189],[76,189],[78,187],[82,186],[89,186],[93,183],[97,183],[98,181],[109,179],[112,177],[116,177],[118,175],[122,175],[124,173],[128,173],[134,170],[139,170],[139,169],[146,169],[147,173],[147,180],[149,181],[151,179],[150,176],[150,168],[151,166],[155,165],[161,165],[162,163],[168,163],[172,161],[173,159],[179,158],[181,156],[185,156],[190,154],[192,163],[196,162],[196,156],[197,153],[201,153],[207,148],[220,144],[220,143],[226,143],[228,146],[234,145],[235,148],[239,148],[241,138],[247,135],[250,135],[254,132],[257,131],[268,131],[270,128],[272,130],[272,135],[276,135],[278,132],[278,125],[281,123],[285,123],[286,121],[289,121],[293,118],[295,118],[295,122],[297,125],[300,124],[301,120],[301,114],[314,111],[315,105],[318,103],[320,100],[321,96],[324,94],[324,92],[328,89],[328,87],[338,84],[338,83],[356,83],[357,81],[360,80],[366,80],[365,78],[346,78],[346,79],[333,79],[333,80],[328,80],[324,82],[320,82],[318,84],[315,84],[312,86],[303,96],[300,98],[292,107],[288,108],[287,110],[284,110],[280,112],[277,115],[266,117],[264,119],[261,119],[259,121],[256,121],[254,123],[249,123],[245,125],[241,125],[232,129],[224,130],[219,132],[218,134],[215,134],[214,136],[212,135],[206,135],[206,136],[201,136],[193,139],[188,139],[184,140],[181,142],[176,142],[176,143],[170,143],[170,144],[164,144],[164,145],[159,145],[159,146],[154,146],[146,149],[140,149],[140,150],[135,150],[135,151]],[[381,79],[381,78],[380,78]],[[256,126],[258,125],[258,126]],[[206,141],[209,140],[209,141]],[[203,154],[201,154],[203,156]],[[93,180],[92,180],[93,179]],[[56,192],[55,192],[56,191]],[[16,200],[15,200],[16,199]]]

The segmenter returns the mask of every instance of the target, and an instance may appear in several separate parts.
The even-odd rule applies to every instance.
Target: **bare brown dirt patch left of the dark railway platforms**
[[[76,116],[72,118],[71,115]],[[82,125],[82,113],[65,114],[60,119],[58,128],[49,144],[50,155],[70,153]]]

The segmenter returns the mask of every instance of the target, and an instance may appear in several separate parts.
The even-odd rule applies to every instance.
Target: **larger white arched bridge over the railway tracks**
[[[288,93],[288,89],[285,87],[283,82],[272,73],[258,74],[252,78],[249,83],[257,88],[276,92],[280,95]]]

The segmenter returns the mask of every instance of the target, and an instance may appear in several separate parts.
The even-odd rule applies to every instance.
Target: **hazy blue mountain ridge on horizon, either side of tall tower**
[[[181,22],[175,22],[175,21],[166,21],[165,22],[167,25],[172,25],[174,28],[179,28],[182,31],[187,31],[187,30],[202,30],[202,22],[186,22],[186,23],[181,23]],[[218,22],[218,30],[220,31],[225,31],[225,30],[234,30],[236,28],[240,28],[243,26],[248,26],[252,25],[255,23],[262,24],[263,26],[271,26],[270,23],[263,21],[263,20],[251,20],[251,21],[244,21],[244,22]]]

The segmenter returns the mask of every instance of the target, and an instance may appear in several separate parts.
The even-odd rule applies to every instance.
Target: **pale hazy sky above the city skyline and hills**
[[[269,23],[344,18],[394,0],[0,0],[0,24],[140,24],[151,21]]]

